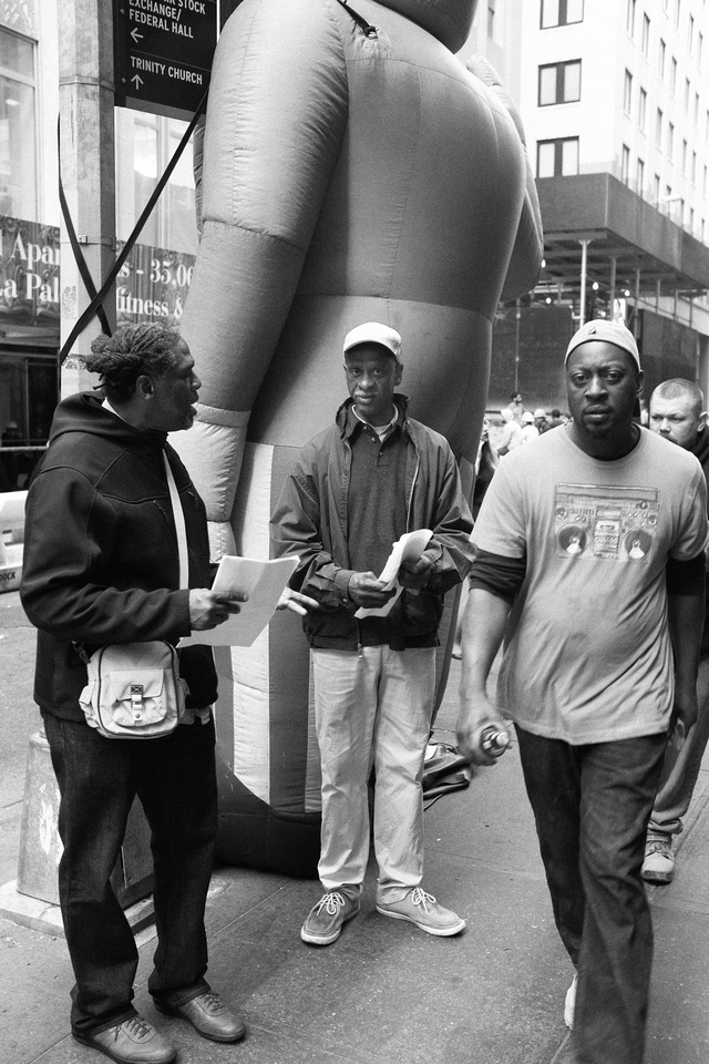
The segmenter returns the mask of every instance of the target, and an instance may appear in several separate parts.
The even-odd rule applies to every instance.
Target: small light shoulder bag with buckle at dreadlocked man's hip
[[[89,682],[79,703],[86,723],[107,739],[158,738],[184,717],[187,684],[169,643],[114,643],[82,658]]]

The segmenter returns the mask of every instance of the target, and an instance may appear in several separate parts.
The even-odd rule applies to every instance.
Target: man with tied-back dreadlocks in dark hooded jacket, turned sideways
[[[61,794],[59,886],[74,969],[74,1037],[112,1060],[167,1064],[176,1051],[132,1004],[137,951],[109,877],[137,794],[152,829],[158,944],[148,990],[161,1012],[236,1042],[242,1019],[205,980],[204,910],[217,827],[216,673],[207,646],[181,652],[188,720],[162,738],[106,739],[79,705],[88,654],[109,643],[214,628],[237,613],[209,590],[202,500],[167,433],[191,427],[199,379],[187,345],[162,326],[100,337],[86,359],[101,391],[58,408],[30,487],[22,603],[38,628],[34,683]],[[172,472],[187,541],[181,587]]]

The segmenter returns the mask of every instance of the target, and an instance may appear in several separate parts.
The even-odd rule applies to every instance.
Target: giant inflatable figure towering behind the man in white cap
[[[517,116],[491,68],[455,55],[474,8],[243,0],[225,25],[182,326],[202,402],[174,441],[215,556],[269,556],[280,485],[345,398],[342,339],[362,321],[403,337],[411,413],[448,437],[472,488],[495,308],[535,284],[542,257]],[[298,622],[278,614],[253,647],[216,656],[220,855],[315,876]]]

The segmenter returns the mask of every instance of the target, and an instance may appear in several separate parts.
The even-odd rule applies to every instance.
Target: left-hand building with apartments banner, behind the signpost
[[[0,485],[22,488],[60,393],[61,0],[0,0]],[[116,236],[133,231],[186,122],[115,111]],[[185,151],[116,285],[119,324],[178,325],[197,249]],[[99,326],[96,324],[96,331]]]

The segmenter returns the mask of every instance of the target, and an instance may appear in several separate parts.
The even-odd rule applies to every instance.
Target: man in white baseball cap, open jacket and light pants
[[[320,603],[304,625],[322,766],[323,893],[300,932],[311,945],[335,942],[359,912],[372,767],[377,910],[429,934],[465,927],[421,886],[421,779],[443,595],[470,569],[472,518],[448,442],[395,393],[399,334],[369,321],[348,332],[343,354],[350,398],[304,448],[271,520],[277,552],[300,557],[291,587]],[[394,591],[377,574],[392,543],[419,529],[431,539],[403,563],[391,605]]]

